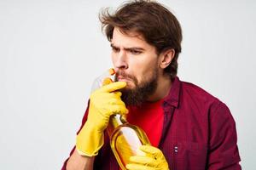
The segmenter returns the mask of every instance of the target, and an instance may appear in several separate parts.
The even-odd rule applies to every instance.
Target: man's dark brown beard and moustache
[[[140,83],[138,83],[136,77],[127,75],[124,71],[119,71],[116,73],[114,77],[115,82],[118,81],[118,76],[129,78],[135,84],[135,88],[125,87],[119,90],[122,93],[121,99],[125,102],[126,106],[142,105],[143,102],[146,101],[150,95],[154,94],[158,85],[158,70],[156,68],[154,68],[154,70],[152,71],[152,76],[148,80],[142,79],[142,82]]]

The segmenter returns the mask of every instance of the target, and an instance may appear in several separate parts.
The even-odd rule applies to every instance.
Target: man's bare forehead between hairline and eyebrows
[[[123,48],[139,47],[139,48],[154,48],[148,44],[143,38],[143,35],[138,32],[123,32],[118,27],[113,29],[113,45]]]

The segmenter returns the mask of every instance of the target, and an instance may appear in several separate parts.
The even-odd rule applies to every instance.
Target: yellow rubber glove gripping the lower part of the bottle
[[[128,170],[168,170],[168,163],[162,151],[151,145],[140,147],[144,156],[131,156],[131,163],[126,165]]]

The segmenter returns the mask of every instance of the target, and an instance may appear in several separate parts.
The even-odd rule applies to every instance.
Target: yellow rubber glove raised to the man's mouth
[[[126,82],[112,82],[97,89],[90,95],[89,115],[77,136],[76,149],[82,156],[96,156],[104,144],[104,130],[108,126],[109,116],[127,114],[121,93]]]

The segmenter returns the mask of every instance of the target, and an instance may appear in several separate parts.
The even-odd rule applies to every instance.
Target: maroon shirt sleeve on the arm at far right
[[[210,113],[210,141],[207,169],[240,170],[236,122],[229,108],[219,102]]]

